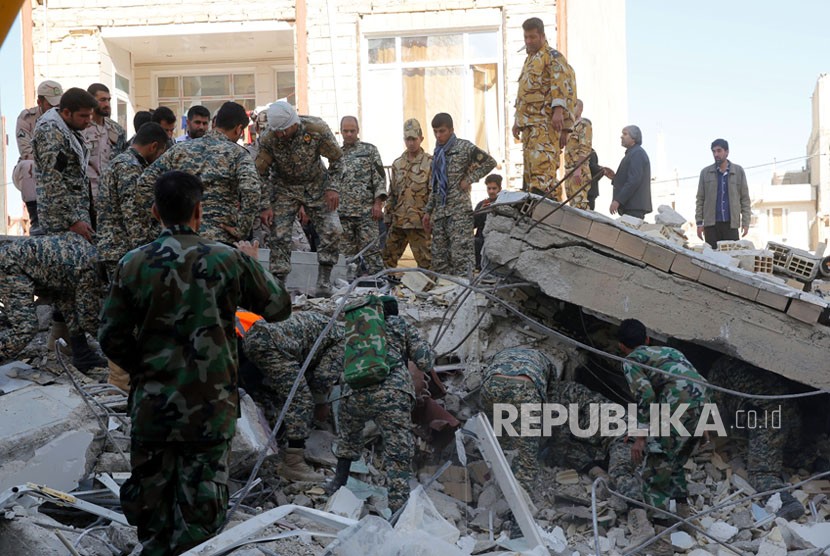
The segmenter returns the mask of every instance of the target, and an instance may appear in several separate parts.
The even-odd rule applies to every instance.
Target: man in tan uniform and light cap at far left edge
[[[29,235],[43,235],[43,227],[37,214],[37,180],[35,179],[35,161],[32,150],[32,137],[35,124],[48,110],[61,102],[63,87],[57,81],[44,81],[37,86],[37,105],[27,108],[17,117],[15,137],[20,158],[12,172],[12,182],[23,196],[29,213]]]

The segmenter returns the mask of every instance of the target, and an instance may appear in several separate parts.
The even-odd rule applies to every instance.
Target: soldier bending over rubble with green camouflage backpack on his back
[[[337,471],[326,485],[330,493],[346,484],[352,462],[363,451],[363,427],[374,420],[383,437],[389,509],[395,512],[406,503],[415,455],[411,430],[415,391],[407,361],[429,374],[435,352],[414,326],[398,316],[395,298],[367,296],[346,309],[343,368],[349,389],[338,414]]]

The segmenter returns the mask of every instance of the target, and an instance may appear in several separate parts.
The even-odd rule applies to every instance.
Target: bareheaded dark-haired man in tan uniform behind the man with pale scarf
[[[92,188],[94,203],[98,199],[98,183],[101,175],[112,159],[127,149],[127,132],[117,122],[110,119],[112,97],[110,97],[109,88],[103,83],[93,83],[87,87],[87,92],[98,101],[98,106],[95,107],[95,113],[92,115],[92,123],[81,133],[89,148],[87,176]]]

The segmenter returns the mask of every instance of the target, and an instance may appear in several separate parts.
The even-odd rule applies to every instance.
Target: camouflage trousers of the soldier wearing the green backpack
[[[335,449],[338,458],[357,461],[363,452],[363,426],[374,420],[383,437],[383,468],[393,512],[409,498],[415,439],[412,434],[412,396],[383,384],[351,391],[340,404],[340,437]]]

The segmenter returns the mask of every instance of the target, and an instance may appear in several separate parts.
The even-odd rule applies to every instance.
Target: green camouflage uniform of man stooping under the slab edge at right
[[[667,436],[651,439],[643,469],[643,499],[653,506],[668,508],[669,500],[685,501],[688,494],[686,460],[694,451],[699,438],[694,436],[703,404],[709,402],[705,386],[686,380],[705,380],[686,357],[674,348],[639,346],[626,359],[644,363],[670,372],[664,375],[629,362],[623,363],[625,375],[634,399],[637,400],[637,421],[650,421],[651,404],[668,404],[673,414],[682,404],[689,404],[680,421],[691,436],[682,437],[674,428]],[[654,446],[654,449],[652,449]],[[655,451],[659,447],[659,451]]]

